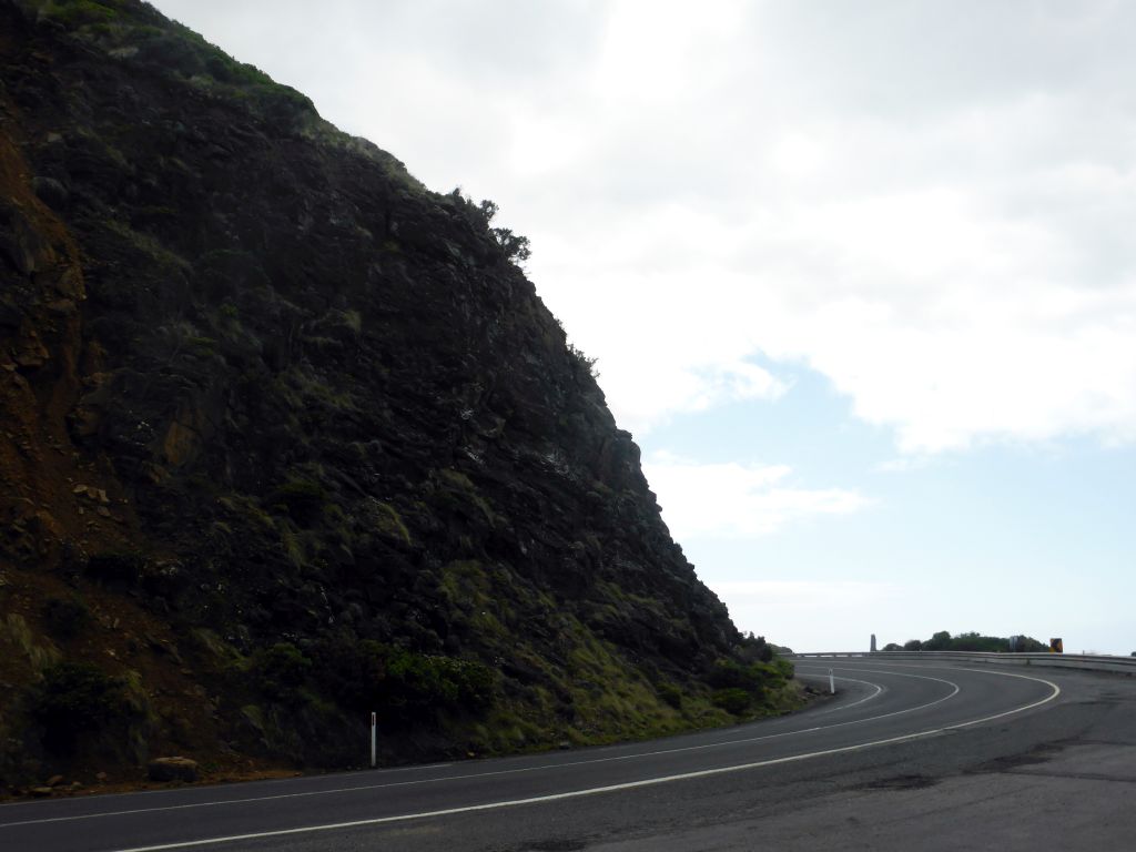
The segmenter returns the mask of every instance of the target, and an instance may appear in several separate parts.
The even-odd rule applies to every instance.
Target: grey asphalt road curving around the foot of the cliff
[[[1004,782],[1013,774],[1018,783],[1027,770],[1036,772],[1054,760],[1111,766],[1111,775],[1087,779],[1111,785],[1106,796],[1094,796],[1103,813],[1089,822],[1103,825],[1105,833],[1136,828],[1127,816],[1136,813],[1136,768],[1126,779],[1126,767],[1136,767],[1130,760],[1136,755],[1133,678],[874,660],[834,662],[833,668],[838,695],[811,710],[650,743],[7,804],[0,807],[0,849],[854,849],[857,832],[867,830],[862,817],[872,808],[879,820],[863,834],[874,840],[862,849],[933,849],[934,837],[953,837],[954,845],[943,849],[979,849],[988,847],[985,841],[1005,813],[994,810],[986,822],[969,820],[967,809],[980,812],[977,805],[987,799],[968,796],[991,779]],[[801,661],[797,671],[827,685],[827,662]],[[1092,753],[1070,752],[1081,740]],[[1034,775],[1029,780],[1054,779]],[[1062,776],[1060,783],[1068,780]],[[924,813],[920,802],[942,804],[951,784],[961,785],[961,793],[950,801],[966,808],[960,804],[928,837],[927,827],[935,824],[928,813],[945,811],[928,804]],[[908,802],[903,812],[924,816],[910,824],[897,819],[896,796],[913,796],[918,801]],[[846,815],[853,799],[860,803],[857,813]],[[1010,822],[1025,820],[1021,811],[1041,800],[1035,788],[1024,793]],[[1053,812],[1047,808],[1041,816]],[[849,822],[849,816],[860,821]],[[892,827],[891,840],[882,840],[875,828],[882,822]],[[976,832],[983,833],[980,840],[967,840]],[[1081,830],[1079,838],[1085,836]],[[1060,837],[1052,829],[1042,841]],[[1000,845],[1014,847],[1012,841]],[[1035,838],[1020,847],[1081,846],[1038,845]]]

